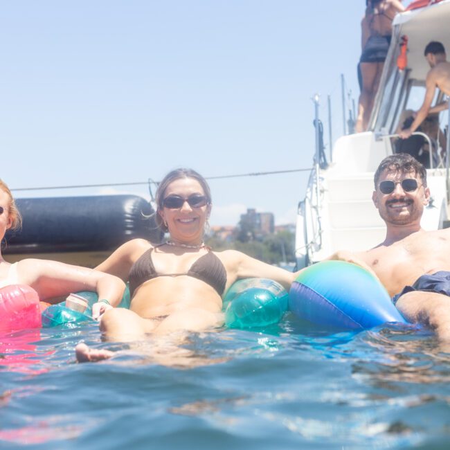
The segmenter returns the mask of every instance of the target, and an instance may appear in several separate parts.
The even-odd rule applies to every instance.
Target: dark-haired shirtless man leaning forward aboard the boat
[[[411,127],[406,128],[399,133],[399,136],[403,139],[411,136],[424,121],[426,116],[444,111],[449,107],[448,101],[440,102],[438,105],[431,107],[436,87],[447,96],[450,96],[450,62],[447,61],[444,46],[440,42],[430,42],[425,47],[424,55],[431,67],[429,73],[426,74],[425,98],[422,106],[415,115],[413,123],[411,123]]]

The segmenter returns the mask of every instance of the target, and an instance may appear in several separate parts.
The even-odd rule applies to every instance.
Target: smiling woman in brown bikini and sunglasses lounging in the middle
[[[289,289],[296,274],[235,250],[215,252],[204,244],[211,211],[208,184],[190,169],[170,172],[156,190],[156,222],[170,238],[160,245],[135,239],[96,269],[129,281],[130,308],[109,309],[100,330],[108,339],[134,341],[146,333],[200,331],[222,325],[222,296],[238,278],[271,278]],[[77,346],[80,361],[111,356]]]

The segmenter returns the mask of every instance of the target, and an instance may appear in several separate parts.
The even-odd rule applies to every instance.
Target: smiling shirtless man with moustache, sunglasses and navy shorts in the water
[[[450,341],[450,228],[420,226],[429,204],[424,166],[409,154],[381,161],[372,200],[386,222],[386,238],[361,253],[338,251],[334,260],[355,262],[379,278],[408,321],[429,325]]]

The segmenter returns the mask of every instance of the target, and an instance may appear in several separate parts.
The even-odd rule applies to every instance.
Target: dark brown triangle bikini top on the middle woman
[[[154,247],[156,248],[156,247]],[[208,251],[192,264],[187,273],[156,273],[152,260],[152,249],[148,249],[133,264],[129,271],[129,294],[133,298],[134,291],[147,280],[160,276],[192,276],[206,282],[213,287],[219,296],[224,294],[226,285],[226,270],[222,261],[212,252]]]

